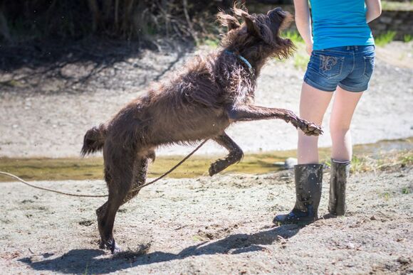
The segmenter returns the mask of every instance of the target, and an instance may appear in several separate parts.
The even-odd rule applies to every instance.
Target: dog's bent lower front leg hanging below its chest
[[[211,164],[209,167],[209,176],[214,176],[231,164],[241,161],[241,158],[244,156],[241,148],[239,148],[239,146],[225,132],[224,134],[216,136],[214,141],[226,148],[229,151],[229,154],[225,158],[220,158]]]

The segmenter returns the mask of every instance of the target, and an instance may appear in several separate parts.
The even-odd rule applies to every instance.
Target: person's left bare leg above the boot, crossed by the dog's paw
[[[333,92],[318,90],[303,82],[300,117],[321,124],[331,97]],[[318,163],[318,136],[306,136],[302,131],[298,131],[298,163]]]

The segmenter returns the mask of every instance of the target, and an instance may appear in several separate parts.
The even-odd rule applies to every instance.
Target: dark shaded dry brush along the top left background
[[[229,1],[6,0],[0,5],[0,41],[73,40],[91,33],[119,40],[197,40]],[[150,38],[148,38],[150,36]]]

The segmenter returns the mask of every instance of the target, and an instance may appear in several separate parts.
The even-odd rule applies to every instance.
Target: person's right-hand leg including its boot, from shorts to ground
[[[330,198],[328,212],[344,215],[346,210],[345,190],[350,175],[352,144],[350,124],[362,92],[348,92],[338,87],[330,118],[330,134],[333,141],[330,173]]]

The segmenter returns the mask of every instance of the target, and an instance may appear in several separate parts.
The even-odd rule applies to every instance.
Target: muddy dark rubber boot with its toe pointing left
[[[318,205],[323,183],[322,164],[294,166],[296,205],[288,214],[276,215],[273,223],[307,225],[318,219]]]

